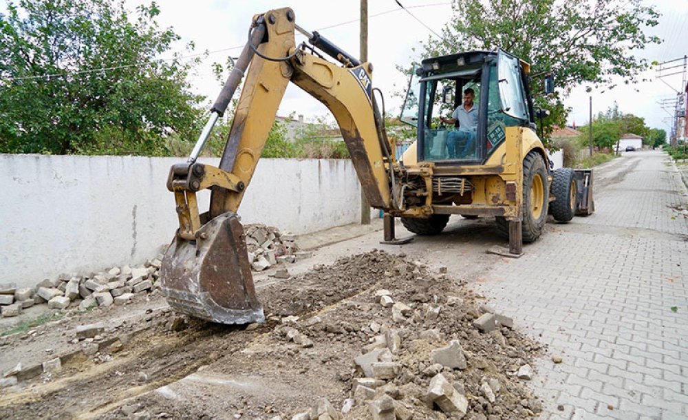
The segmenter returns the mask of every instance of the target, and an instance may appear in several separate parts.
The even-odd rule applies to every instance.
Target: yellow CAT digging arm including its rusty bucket
[[[295,30],[339,63],[327,61]],[[250,64],[250,67],[249,67]],[[219,167],[197,162],[217,119],[224,114],[244,72],[244,87]],[[361,186],[372,207],[393,209],[394,154],[371,87],[372,65],[295,23],[290,8],[254,17],[248,43],[211,109],[187,162],[174,165],[167,187],[175,194],[180,229],[162,262],[162,291],[178,311],[223,324],[263,322],[237,211],[265,146],[288,83],[321,101],[336,119]],[[200,213],[196,192],[211,190]]]

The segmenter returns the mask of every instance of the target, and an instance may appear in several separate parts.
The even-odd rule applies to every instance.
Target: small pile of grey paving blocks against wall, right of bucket
[[[246,224],[246,247],[248,262],[254,271],[264,271],[280,262],[294,262],[307,258],[309,252],[299,251],[296,237],[291,233],[280,233],[276,227],[265,224]]]

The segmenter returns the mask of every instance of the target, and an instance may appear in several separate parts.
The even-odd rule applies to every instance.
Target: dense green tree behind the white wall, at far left
[[[155,3],[130,16],[123,0],[10,1],[0,14],[0,151],[166,154],[191,135],[200,98],[189,63],[166,61],[179,36]]]

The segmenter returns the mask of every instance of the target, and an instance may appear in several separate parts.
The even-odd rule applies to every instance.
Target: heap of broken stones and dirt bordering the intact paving
[[[388,256],[372,258],[384,266]],[[281,318],[273,336],[296,348],[324,348],[363,339],[348,378],[350,392],[303,410],[291,420],[474,419],[535,417],[542,403],[526,382],[541,346],[513,330],[513,319],[480,305],[480,296],[420,263],[393,259],[383,286],[334,313]],[[349,261],[346,261],[349,263]],[[362,258],[355,264],[361,270]],[[339,271],[347,275],[345,269]],[[440,273],[442,269],[440,269]],[[322,271],[323,278],[327,272]],[[457,293],[457,291],[464,293]],[[359,300],[364,299],[365,302]],[[274,417],[273,419],[282,419]]]

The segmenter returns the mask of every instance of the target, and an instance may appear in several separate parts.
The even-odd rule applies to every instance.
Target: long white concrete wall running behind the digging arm
[[[0,283],[33,286],[61,272],[154,256],[177,228],[165,187],[175,162],[180,158],[0,155]],[[244,223],[309,233],[358,221],[360,207],[350,160],[262,159],[239,215]]]

